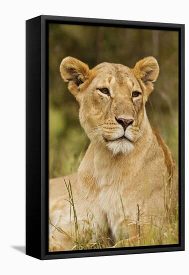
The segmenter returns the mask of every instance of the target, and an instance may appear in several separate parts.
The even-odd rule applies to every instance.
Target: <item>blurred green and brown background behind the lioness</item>
[[[49,177],[77,170],[89,140],[78,118],[79,104],[63,82],[59,66],[66,56],[86,62],[134,67],[146,56],[157,58],[160,75],[146,104],[178,163],[178,32],[49,24]]]

